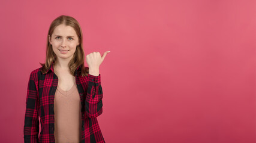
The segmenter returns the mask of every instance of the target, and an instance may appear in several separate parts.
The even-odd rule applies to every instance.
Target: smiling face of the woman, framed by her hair
[[[79,39],[76,31],[71,26],[60,24],[53,30],[52,36],[49,35],[49,42],[52,45],[53,52],[56,54],[57,60],[60,58],[71,60],[79,45]]]

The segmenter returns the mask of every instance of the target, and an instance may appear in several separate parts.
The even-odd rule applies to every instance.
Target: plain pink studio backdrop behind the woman
[[[1,1],[1,138],[23,142],[47,30],[76,18],[100,66],[106,142],[256,142],[255,1]],[[87,64],[86,64],[87,66]]]

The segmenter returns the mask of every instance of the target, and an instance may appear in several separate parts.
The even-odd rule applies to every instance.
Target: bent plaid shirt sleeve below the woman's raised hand
[[[103,113],[103,91],[101,87],[101,74],[93,76],[88,74],[88,90],[86,94],[86,116],[98,117]]]

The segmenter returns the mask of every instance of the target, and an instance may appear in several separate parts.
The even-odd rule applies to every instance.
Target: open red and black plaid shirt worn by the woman
[[[88,68],[88,67],[86,67]],[[82,77],[80,67],[76,70],[76,84],[82,105],[82,142],[105,142],[97,117],[103,112],[103,91],[101,75],[88,74]],[[26,95],[26,113],[24,125],[25,142],[55,142],[54,97],[58,85],[58,77],[53,72],[53,64],[46,74],[41,67],[32,71]],[[39,133],[40,116],[41,132]]]

